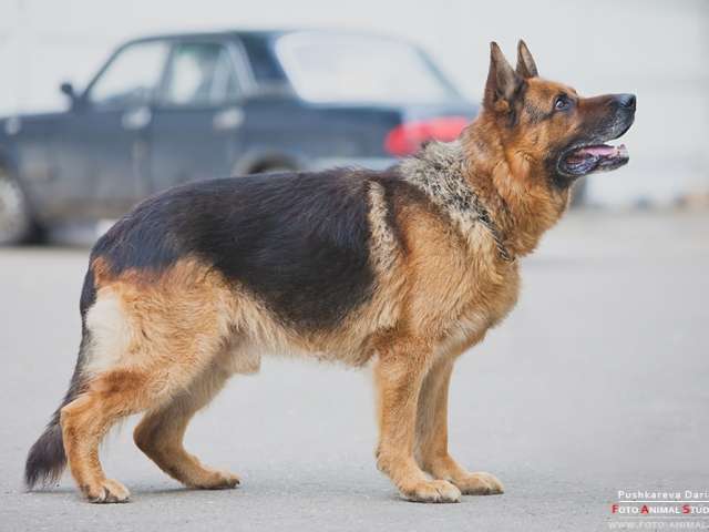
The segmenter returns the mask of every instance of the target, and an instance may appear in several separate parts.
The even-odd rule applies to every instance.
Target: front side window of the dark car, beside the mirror
[[[130,44],[92,83],[89,101],[103,109],[148,103],[162,79],[168,50],[167,43],[161,41]]]

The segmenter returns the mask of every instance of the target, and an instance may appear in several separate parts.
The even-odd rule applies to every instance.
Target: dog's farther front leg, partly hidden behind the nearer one
[[[435,479],[454,483],[464,494],[491,495],[504,488],[494,475],[471,473],[448,451],[448,390],[453,358],[438,361],[425,376],[419,395],[417,416],[417,454],[421,467]]]

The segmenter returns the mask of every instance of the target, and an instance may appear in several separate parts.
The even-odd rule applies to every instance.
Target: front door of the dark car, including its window
[[[54,141],[54,203],[72,217],[115,217],[148,193],[151,104],[166,41],[121,48],[90,83]]]

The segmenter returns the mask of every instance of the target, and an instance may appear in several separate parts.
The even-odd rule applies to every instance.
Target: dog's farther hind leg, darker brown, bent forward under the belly
[[[230,374],[207,370],[165,407],[145,413],[135,428],[135,444],[175,480],[189,488],[224,489],[239,483],[235,474],[203,466],[183,447],[192,417],[223,388]]]

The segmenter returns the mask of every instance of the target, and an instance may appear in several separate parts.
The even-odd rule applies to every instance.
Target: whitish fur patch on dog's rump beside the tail
[[[116,366],[129,351],[133,339],[132,324],[119,296],[101,291],[86,313],[90,348],[85,370],[100,374]]]

